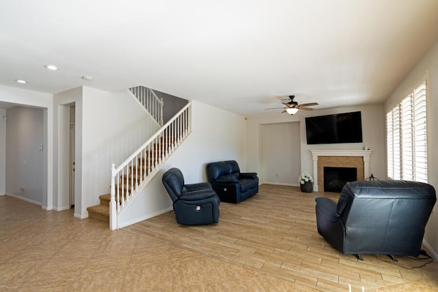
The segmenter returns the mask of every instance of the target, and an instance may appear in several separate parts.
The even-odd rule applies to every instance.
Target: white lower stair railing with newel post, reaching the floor
[[[192,131],[192,103],[185,105],[153,137],[118,168],[111,165],[110,230],[119,228],[118,216],[151,181],[173,151]]]

